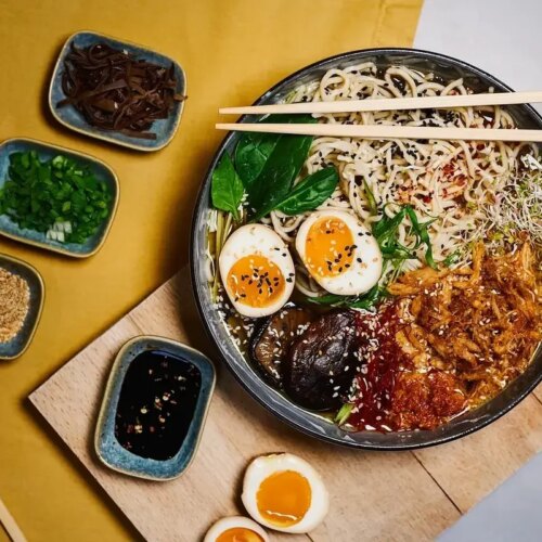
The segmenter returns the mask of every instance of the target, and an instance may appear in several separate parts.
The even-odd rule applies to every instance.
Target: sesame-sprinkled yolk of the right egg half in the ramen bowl
[[[339,218],[323,217],[309,229],[305,245],[305,264],[313,276],[337,276],[353,261],[352,232]]]

